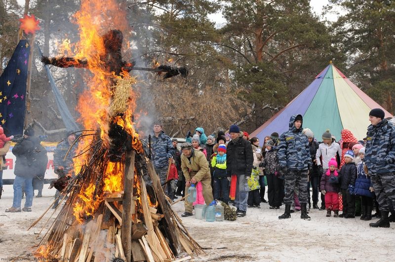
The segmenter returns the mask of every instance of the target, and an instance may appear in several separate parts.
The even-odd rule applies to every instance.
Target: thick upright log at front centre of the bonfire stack
[[[121,227],[121,246],[125,252],[125,257],[127,262],[131,262],[132,252],[131,252],[131,237],[132,237],[132,214],[134,211],[134,201],[133,197],[133,178],[134,178],[134,150],[126,151],[125,158],[125,172],[123,179],[123,199],[122,199],[122,221],[123,225]],[[121,223],[119,223],[121,224]]]

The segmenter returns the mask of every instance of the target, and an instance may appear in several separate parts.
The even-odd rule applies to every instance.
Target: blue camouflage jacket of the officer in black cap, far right
[[[364,160],[372,176],[395,172],[395,126],[387,119],[368,126]]]

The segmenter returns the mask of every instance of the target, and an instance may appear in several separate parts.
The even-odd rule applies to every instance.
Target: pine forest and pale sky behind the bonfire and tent
[[[19,40],[19,18],[40,20],[45,56],[78,42],[73,14],[79,0],[0,0],[0,74]],[[201,126],[207,134],[236,123],[252,132],[306,88],[333,61],[359,88],[394,114],[395,1],[328,0],[316,14],[309,0],[119,0],[130,32],[123,58],[137,66],[186,67],[189,75],[163,79],[135,73],[142,133],[159,119],[171,137]],[[337,13],[336,21],[328,14]],[[210,16],[221,14],[223,23]],[[35,122],[56,141],[64,135],[37,51],[32,70]],[[73,116],[84,88],[81,69],[51,67]],[[146,129],[144,129],[144,127]]]

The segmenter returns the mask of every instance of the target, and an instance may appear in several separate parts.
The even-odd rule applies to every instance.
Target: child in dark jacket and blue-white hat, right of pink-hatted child
[[[355,195],[356,166],[354,152],[347,150],[344,154],[344,165],[340,169],[340,191],[343,196],[343,214],[341,218],[355,218]]]

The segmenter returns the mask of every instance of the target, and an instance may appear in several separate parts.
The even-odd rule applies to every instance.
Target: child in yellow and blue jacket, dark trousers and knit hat
[[[230,175],[226,173],[225,145],[218,146],[218,153],[211,159],[211,166],[214,168],[214,199],[228,204]]]

